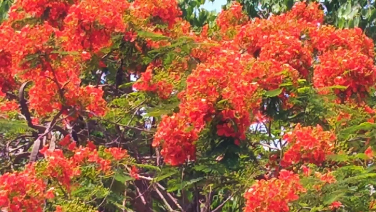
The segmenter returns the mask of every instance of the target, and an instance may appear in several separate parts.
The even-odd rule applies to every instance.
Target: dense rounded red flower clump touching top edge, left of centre
[[[64,30],[57,35],[67,51],[97,53],[111,46],[113,33],[125,32],[123,13],[127,1],[82,0],[71,6],[64,20]]]

